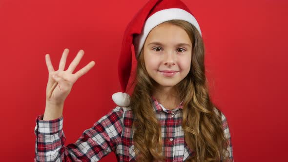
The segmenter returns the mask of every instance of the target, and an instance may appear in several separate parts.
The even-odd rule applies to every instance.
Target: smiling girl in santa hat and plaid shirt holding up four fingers
[[[72,74],[82,50],[66,71],[68,49],[58,71],[46,55],[46,108],[36,119],[35,161],[96,162],[113,151],[119,162],[233,162],[226,117],[208,94],[200,27],[185,4],[150,0],[129,23],[119,60],[123,92],[130,77],[132,43],[138,63],[131,99],[115,93],[118,106],[67,146],[64,100],[95,62]]]

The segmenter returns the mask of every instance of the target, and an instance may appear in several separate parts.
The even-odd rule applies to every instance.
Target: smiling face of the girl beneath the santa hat
[[[160,86],[173,87],[190,71],[192,43],[179,26],[163,23],[153,28],[143,52],[148,75]]]

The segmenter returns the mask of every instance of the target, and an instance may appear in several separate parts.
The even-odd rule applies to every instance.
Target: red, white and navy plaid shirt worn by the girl
[[[166,162],[183,162],[195,152],[184,141],[182,123],[182,104],[173,110],[167,110],[154,98],[153,107],[162,125],[163,154]],[[132,122],[130,108],[117,106],[107,115],[86,129],[75,142],[64,145],[62,130],[63,116],[43,121],[43,114],[36,118],[35,162],[97,162],[110,152],[114,152],[118,162],[135,162],[133,151]],[[222,113],[222,123],[226,138],[229,139],[229,162],[234,162],[232,144],[226,117]]]

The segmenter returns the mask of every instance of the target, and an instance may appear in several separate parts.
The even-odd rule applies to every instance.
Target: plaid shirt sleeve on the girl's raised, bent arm
[[[97,162],[115,151],[123,130],[123,109],[116,107],[93,126],[86,129],[75,142],[65,146],[62,130],[63,116],[43,121],[43,114],[36,118],[34,162]]]

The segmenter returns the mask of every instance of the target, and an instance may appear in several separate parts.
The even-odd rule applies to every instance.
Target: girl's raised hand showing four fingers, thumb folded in
[[[57,71],[54,71],[49,54],[45,56],[46,65],[49,71],[48,83],[46,88],[46,101],[49,101],[53,104],[62,104],[70,93],[73,84],[95,65],[95,62],[91,61],[81,70],[79,70],[75,74],[72,74],[77,65],[79,64],[80,60],[82,59],[82,56],[84,55],[84,51],[80,50],[75,59],[69,65],[68,69],[64,71],[68,53],[68,49],[65,49],[63,51],[62,58],[59,64],[59,69]],[[53,75],[56,75],[57,77],[54,78],[52,77]]]

